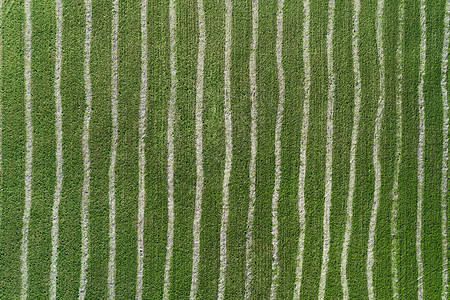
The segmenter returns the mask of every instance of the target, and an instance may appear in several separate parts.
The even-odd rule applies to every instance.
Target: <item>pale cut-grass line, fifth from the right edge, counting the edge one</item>
[[[355,105],[353,108],[353,128],[352,128],[352,143],[350,146],[350,177],[348,183],[348,198],[345,220],[344,242],[342,244],[341,255],[341,285],[343,299],[349,299],[348,281],[347,281],[347,259],[348,248],[350,245],[350,237],[352,233],[352,218],[353,218],[353,194],[355,192],[355,173],[356,173],[356,146],[358,142],[358,129],[360,119],[361,106],[361,73],[359,69],[359,12],[361,4],[359,0],[353,1],[353,30],[352,30],[352,49],[353,49],[353,73],[355,74]]]

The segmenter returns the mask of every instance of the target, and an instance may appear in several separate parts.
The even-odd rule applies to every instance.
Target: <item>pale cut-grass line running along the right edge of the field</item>
[[[442,299],[448,295],[448,241],[447,241],[447,161],[448,161],[448,95],[447,95],[447,57],[448,43],[450,39],[450,1],[447,0],[444,18],[444,43],[442,47],[441,89],[443,106],[443,143],[442,143]]]

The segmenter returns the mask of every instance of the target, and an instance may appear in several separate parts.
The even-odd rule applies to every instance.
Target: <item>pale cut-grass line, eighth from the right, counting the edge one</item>
[[[277,12],[277,69],[279,102],[277,121],[275,124],[275,184],[272,196],[272,284],[270,287],[270,299],[276,299],[280,266],[278,264],[278,197],[281,184],[281,128],[283,125],[284,110],[284,71],[283,71],[283,5],[284,0],[278,0]]]

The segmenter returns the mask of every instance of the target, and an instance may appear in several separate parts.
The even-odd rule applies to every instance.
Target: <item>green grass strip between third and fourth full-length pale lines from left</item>
[[[111,151],[111,4],[92,3],[90,123],[91,182],[89,267],[86,297],[107,294],[109,259],[109,165]]]

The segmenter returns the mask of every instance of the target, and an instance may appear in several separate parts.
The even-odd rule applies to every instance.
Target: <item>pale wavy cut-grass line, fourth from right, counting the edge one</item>
[[[369,240],[367,243],[367,262],[366,262],[367,288],[370,300],[375,299],[375,291],[373,287],[373,264],[375,262],[374,257],[375,230],[377,224],[377,213],[381,192],[381,164],[379,158],[379,150],[380,150],[381,122],[383,120],[383,112],[384,112],[384,98],[386,97],[385,69],[383,56],[383,9],[384,9],[384,0],[378,0],[376,39],[378,49],[378,60],[380,64],[380,71],[379,71],[380,96],[378,99],[378,109],[375,118],[375,131],[373,136],[373,165],[375,169],[375,189],[373,194],[372,214],[369,223]]]

